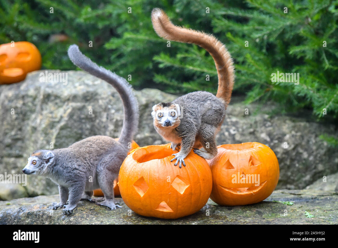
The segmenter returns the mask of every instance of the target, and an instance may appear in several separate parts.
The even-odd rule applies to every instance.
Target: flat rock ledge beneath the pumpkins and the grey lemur
[[[0,224],[338,224],[338,194],[331,191],[276,190],[260,203],[232,207],[218,206],[209,199],[196,214],[176,220],[140,216],[117,199],[121,209],[109,210],[81,201],[70,216],[51,209],[58,195],[0,201]],[[305,212],[314,217],[307,218]]]

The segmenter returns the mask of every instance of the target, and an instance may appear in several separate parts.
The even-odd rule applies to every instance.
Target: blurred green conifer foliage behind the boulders
[[[167,47],[152,29],[153,7],[163,8],[174,24],[213,33],[226,45],[235,61],[234,94],[245,95],[245,103],[275,101],[281,113],[311,110],[317,120],[338,122],[337,0],[0,0],[0,43],[32,42],[42,68],[59,70],[76,69],[67,56],[75,43],[99,65],[132,75],[137,89],[215,93],[212,57],[195,45]],[[277,71],[299,73],[299,85],[271,82]],[[335,137],[322,138],[338,144]]]

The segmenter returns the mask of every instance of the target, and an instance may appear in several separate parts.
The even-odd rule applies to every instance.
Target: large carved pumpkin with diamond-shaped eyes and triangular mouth
[[[125,204],[143,216],[175,219],[199,211],[208,201],[212,176],[206,160],[193,151],[179,168],[170,162],[170,144],[149,145],[132,151],[119,173]]]

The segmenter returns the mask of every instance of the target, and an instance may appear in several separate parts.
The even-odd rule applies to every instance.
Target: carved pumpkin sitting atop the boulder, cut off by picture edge
[[[41,54],[30,42],[0,45],[0,84],[20,82],[40,68]]]

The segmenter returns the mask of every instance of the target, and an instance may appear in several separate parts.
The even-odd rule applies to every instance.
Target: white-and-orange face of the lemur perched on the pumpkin
[[[151,116],[158,128],[175,128],[179,125],[181,110],[178,104],[159,103],[152,107]]]

